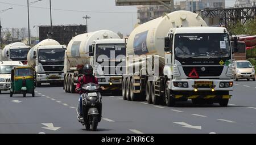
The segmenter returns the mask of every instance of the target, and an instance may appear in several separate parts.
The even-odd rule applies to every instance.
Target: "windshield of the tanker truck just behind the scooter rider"
[[[100,56],[109,59],[109,61],[117,61],[117,58],[126,56],[125,44],[99,44],[96,46],[97,62],[102,61]]]

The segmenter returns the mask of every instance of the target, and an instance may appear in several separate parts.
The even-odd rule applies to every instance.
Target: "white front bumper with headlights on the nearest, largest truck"
[[[212,82],[212,86],[199,86],[195,82]],[[177,87],[174,85],[174,83],[179,82],[187,82],[188,87]],[[195,88],[197,91],[232,91],[233,90],[233,80],[232,79],[224,79],[224,80],[213,80],[213,79],[173,79],[167,82],[168,88],[170,88],[173,91],[195,91]],[[232,83],[232,87],[220,87],[220,83]]]

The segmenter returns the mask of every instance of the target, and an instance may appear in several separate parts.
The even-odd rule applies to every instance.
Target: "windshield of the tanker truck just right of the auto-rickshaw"
[[[64,49],[40,49],[39,62],[64,62]]]

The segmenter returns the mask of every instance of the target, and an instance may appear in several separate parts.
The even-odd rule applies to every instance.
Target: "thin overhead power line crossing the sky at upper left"
[[[25,5],[18,5],[15,3],[7,3],[7,2],[0,2],[6,5],[13,5],[13,6],[20,6],[20,7],[27,7]],[[33,8],[41,8],[41,9],[46,9],[49,10],[47,7],[35,7],[35,6],[30,6]],[[57,10],[57,11],[70,11],[70,12],[91,12],[91,13],[109,13],[109,14],[137,14],[137,12],[114,12],[114,11],[82,11],[82,10],[68,10],[68,9],[60,9],[60,8],[52,8],[52,10]]]

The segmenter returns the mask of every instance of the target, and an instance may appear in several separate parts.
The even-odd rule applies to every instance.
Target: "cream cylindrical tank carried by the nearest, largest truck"
[[[175,11],[141,24],[131,32],[127,42],[127,56],[158,54],[159,61],[164,63],[164,37],[171,28],[177,27],[207,27],[207,23],[199,16],[189,11]]]

